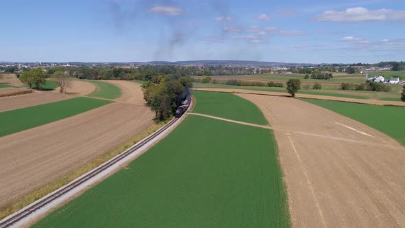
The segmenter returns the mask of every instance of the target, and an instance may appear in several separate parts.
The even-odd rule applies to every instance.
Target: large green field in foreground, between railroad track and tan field
[[[270,130],[189,116],[34,227],[289,227],[276,151]]]

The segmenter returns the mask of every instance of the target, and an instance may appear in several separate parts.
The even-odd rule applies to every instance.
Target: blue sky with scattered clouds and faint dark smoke
[[[403,0],[3,0],[0,5],[0,61],[405,60]]]

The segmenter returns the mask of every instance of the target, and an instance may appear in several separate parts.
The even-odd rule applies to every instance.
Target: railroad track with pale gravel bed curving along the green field
[[[150,142],[152,139],[155,137],[159,136],[161,133],[163,133],[167,128],[170,128],[174,123],[178,121],[181,117],[176,117],[172,119],[170,122],[168,122],[165,126],[157,130],[155,133],[152,135],[149,135],[145,139],[139,141],[135,146],[130,148],[129,150],[126,150],[125,152],[122,152],[121,154],[117,155],[113,159],[107,161],[106,163],[102,164],[102,166],[99,166],[95,168],[94,170],[91,170],[90,172],[84,174],[81,176],[79,179],[76,179],[75,181],[61,187],[59,190],[56,190],[55,192],[41,198],[40,200],[32,203],[31,205],[25,207],[24,209],[21,209],[19,212],[16,212],[12,214],[12,216],[8,216],[4,218],[3,220],[0,221],[0,228],[3,227],[10,227],[14,225],[15,223],[19,222],[20,220],[23,220],[27,216],[30,216],[34,212],[38,211],[38,209],[41,209],[51,203],[52,201],[55,201],[56,199],[62,197],[63,195],[67,194],[71,190],[75,189],[76,187],[82,185],[86,181],[89,181],[91,178],[96,176],[97,174],[100,174],[104,170],[110,168],[111,166],[115,165],[118,161],[121,161],[128,155],[132,154],[132,152],[135,152],[142,146],[145,146]]]

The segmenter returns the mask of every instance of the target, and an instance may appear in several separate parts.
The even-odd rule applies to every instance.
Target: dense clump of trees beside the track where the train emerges
[[[152,80],[143,84],[143,98],[154,111],[155,121],[164,121],[176,113],[177,107],[189,95],[191,78],[162,78],[159,83]]]

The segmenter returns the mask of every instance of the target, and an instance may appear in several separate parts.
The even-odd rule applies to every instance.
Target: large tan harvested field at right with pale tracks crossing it
[[[405,148],[397,141],[301,100],[238,95],[275,129],[293,227],[405,227]]]

